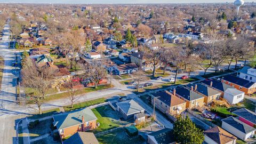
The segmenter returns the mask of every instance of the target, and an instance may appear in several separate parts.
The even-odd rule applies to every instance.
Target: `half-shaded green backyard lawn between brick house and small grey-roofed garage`
[[[93,108],[92,111],[98,118],[97,122],[100,123],[100,126],[97,127],[97,129],[92,130],[92,132],[98,133],[121,126],[120,121],[117,121],[119,119],[117,111],[112,109],[110,106],[107,105]]]

